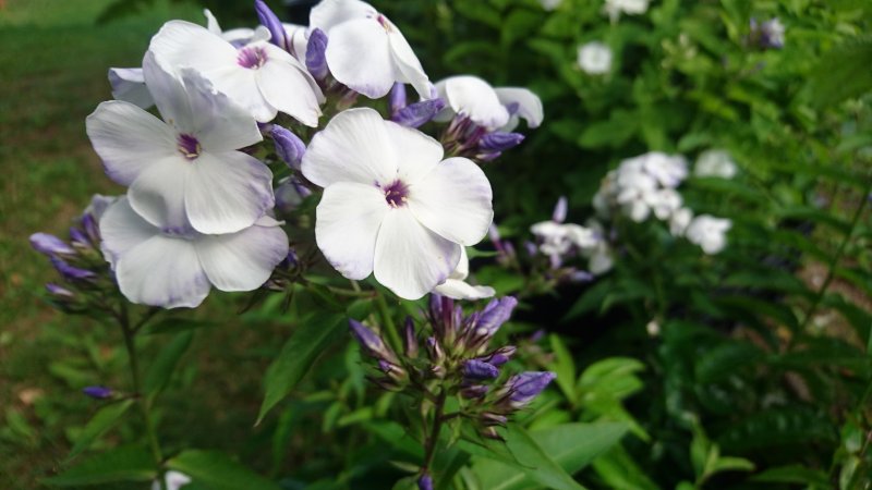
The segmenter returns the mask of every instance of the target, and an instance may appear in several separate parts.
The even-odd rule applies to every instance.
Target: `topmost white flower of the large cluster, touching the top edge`
[[[340,83],[371,99],[386,96],[397,82],[431,98],[429,78],[409,41],[368,3],[322,0],[308,21],[310,28],[327,35],[327,66]]]

